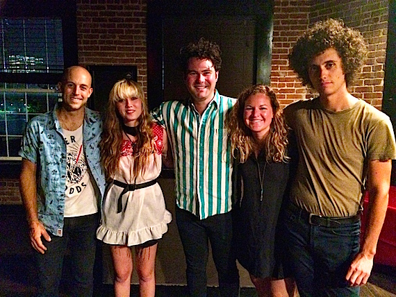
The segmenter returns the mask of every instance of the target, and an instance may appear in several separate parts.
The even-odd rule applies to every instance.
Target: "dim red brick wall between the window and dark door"
[[[146,0],[77,0],[79,63],[135,65],[147,91]]]

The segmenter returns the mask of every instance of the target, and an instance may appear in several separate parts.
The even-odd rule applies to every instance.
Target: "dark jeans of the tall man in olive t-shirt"
[[[286,264],[300,296],[358,296],[359,288],[349,287],[345,276],[359,251],[361,222],[314,226],[303,212],[289,205],[283,214]]]

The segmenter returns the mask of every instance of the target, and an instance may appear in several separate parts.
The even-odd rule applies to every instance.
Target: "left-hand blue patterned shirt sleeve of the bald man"
[[[38,161],[38,123],[36,121],[30,121],[22,137],[21,149],[19,150],[19,155],[34,164]]]

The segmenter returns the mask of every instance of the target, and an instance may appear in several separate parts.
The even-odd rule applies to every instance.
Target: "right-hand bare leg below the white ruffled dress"
[[[156,253],[158,244],[146,248],[135,248],[136,270],[139,278],[140,297],[154,297],[156,294]]]

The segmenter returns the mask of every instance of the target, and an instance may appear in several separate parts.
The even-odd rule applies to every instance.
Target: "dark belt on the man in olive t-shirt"
[[[361,219],[360,212],[352,217],[323,217],[320,214],[311,214],[306,210],[302,210],[293,203],[289,203],[289,208],[292,212],[299,212],[299,217],[313,226],[337,228],[341,225],[356,223]]]

